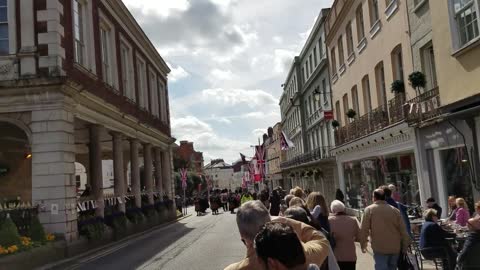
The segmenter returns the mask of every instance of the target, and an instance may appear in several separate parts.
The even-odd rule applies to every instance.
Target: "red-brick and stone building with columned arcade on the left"
[[[119,211],[129,167],[141,206],[139,156],[148,202],[172,198],[170,70],[122,1],[2,3],[0,198],[40,205],[46,230],[67,241],[78,236],[75,162],[99,216],[102,160],[113,160]]]

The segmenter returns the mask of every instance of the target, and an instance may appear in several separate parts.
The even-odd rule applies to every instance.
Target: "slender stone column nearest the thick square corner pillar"
[[[88,153],[90,155],[90,183],[92,185],[92,194],[97,204],[95,214],[103,217],[103,174],[102,174],[102,145],[100,143],[100,133],[102,127],[99,125],[90,126],[90,144]]]

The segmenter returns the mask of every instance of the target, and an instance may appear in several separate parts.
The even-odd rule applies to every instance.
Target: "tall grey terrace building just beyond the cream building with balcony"
[[[322,9],[300,55],[295,57],[280,99],[282,128],[295,147],[287,150],[281,164],[286,187],[319,191],[328,200],[338,187],[325,20]]]

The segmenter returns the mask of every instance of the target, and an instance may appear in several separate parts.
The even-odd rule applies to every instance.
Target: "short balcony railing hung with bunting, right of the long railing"
[[[407,101],[404,105],[404,111],[407,115],[408,124],[418,124],[440,115],[440,105],[438,87]]]

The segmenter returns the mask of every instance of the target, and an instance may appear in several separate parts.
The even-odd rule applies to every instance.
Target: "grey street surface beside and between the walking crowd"
[[[211,270],[244,258],[235,215],[220,210],[219,215],[196,216],[193,208],[188,214],[193,215],[43,269]],[[374,269],[371,251],[363,254],[357,246],[357,256],[357,269]]]

